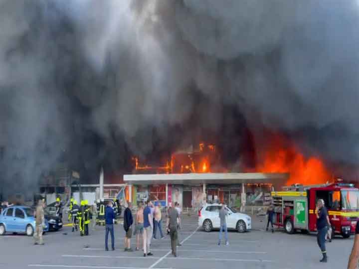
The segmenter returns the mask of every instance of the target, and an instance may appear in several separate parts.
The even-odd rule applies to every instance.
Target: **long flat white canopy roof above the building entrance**
[[[272,183],[284,185],[288,173],[188,173],[188,174],[131,174],[124,175],[124,182],[134,185],[150,184],[239,184]]]

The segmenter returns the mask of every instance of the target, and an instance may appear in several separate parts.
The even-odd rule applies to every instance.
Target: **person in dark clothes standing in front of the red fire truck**
[[[318,246],[322,251],[323,259],[320,260],[321,263],[327,263],[327,251],[325,246],[325,239],[328,231],[329,217],[327,209],[324,206],[324,201],[319,199],[316,207],[316,216],[317,216],[317,242]]]

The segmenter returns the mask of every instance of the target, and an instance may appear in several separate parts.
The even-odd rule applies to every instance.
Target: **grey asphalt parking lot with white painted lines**
[[[44,236],[44,246],[33,246],[32,238],[22,235],[0,237],[1,269],[318,269],[346,268],[353,246],[351,239],[338,237],[327,244],[329,263],[321,264],[315,235],[274,234],[263,230],[263,222],[253,221],[253,231],[229,232],[229,246],[218,246],[218,232],[203,232],[197,218],[184,217],[178,257],[171,255],[169,237],[153,240],[154,256],[123,251],[124,231],[115,226],[115,251],[104,251],[104,228],[97,227],[88,237],[64,227]],[[66,234],[66,235],[65,235]],[[132,240],[135,249],[135,240]]]

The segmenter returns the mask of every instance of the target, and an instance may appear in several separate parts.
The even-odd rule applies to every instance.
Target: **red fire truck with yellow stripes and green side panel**
[[[359,189],[353,184],[334,183],[316,186],[295,184],[283,191],[273,191],[273,224],[288,234],[317,231],[316,202],[323,199],[336,234],[349,238],[359,217]]]

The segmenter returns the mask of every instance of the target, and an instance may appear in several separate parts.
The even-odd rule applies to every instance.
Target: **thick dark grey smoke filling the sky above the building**
[[[358,0],[0,0],[0,180],[285,133],[359,159]],[[225,158],[225,157],[224,157]]]

